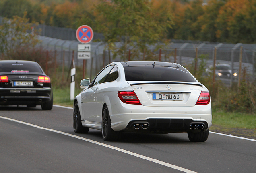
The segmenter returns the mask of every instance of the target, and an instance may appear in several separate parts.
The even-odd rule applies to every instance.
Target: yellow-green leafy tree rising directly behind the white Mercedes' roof
[[[147,49],[146,44],[155,44],[166,38],[171,27],[168,13],[163,22],[155,20],[152,4],[148,0],[100,0],[96,7],[95,28],[105,36],[104,42],[112,46],[114,55],[127,59],[128,46],[136,50]],[[115,42],[121,45],[116,47]]]

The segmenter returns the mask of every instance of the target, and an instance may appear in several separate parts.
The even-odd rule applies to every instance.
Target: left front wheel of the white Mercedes
[[[89,131],[89,127],[84,127],[82,125],[80,111],[77,102],[74,104],[73,109],[73,129],[75,133],[88,133]]]

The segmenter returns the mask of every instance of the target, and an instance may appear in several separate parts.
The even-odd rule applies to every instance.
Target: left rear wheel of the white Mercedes
[[[111,119],[107,106],[103,108],[102,112],[101,131],[104,141],[117,141],[121,137],[121,132],[116,132],[111,128]]]

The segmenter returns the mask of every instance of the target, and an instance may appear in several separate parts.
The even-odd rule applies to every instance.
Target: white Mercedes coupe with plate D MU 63
[[[107,65],[92,80],[81,80],[74,99],[75,133],[102,131],[105,141],[122,132],[186,132],[204,142],[211,126],[208,89],[183,66],[168,62],[129,61]]]

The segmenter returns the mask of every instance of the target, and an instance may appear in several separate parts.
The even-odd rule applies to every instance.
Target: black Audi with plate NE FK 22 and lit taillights
[[[50,77],[37,62],[0,60],[0,105],[41,105],[52,109]]]

